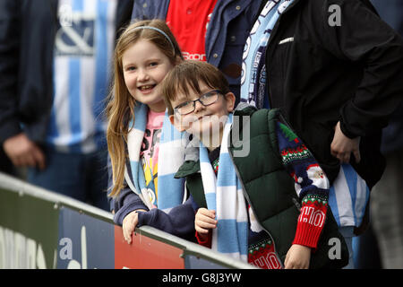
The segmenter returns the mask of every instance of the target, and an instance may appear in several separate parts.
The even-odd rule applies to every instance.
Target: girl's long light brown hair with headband
[[[141,26],[151,26],[163,30],[174,45],[165,35],[158,30],[135,29]],[[133,126],[129,126],[133,118],[136,100],[129,93],[124,83],[122,57],[124,52],[139,39],[149,40],[157,46],[176,65],[183,59],[180,48],[167,24],[161,20],[147,20],[133,22],[120,35],[116,42],[114,55],[114,80],[107,99],[107,150],[112,163],[113,187],[109,196],[117,196],[124,187],[124,168],[128,157],[126,144],[127,135]]]

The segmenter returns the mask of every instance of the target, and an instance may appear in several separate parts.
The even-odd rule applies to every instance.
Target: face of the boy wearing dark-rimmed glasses
[[[199,99],[205,99],[206,93],[210,91],[217,91],[210,88],[204,83],[199,83],[201,93],[189,89],[190,94],[185,95],[182,91],[177,93],[176,100],[171,101],[171,105],[174,108],[174,115],[169,116],[172,125],[176,126],[179,131],[187,131],[189,134],[198,136],[200,139],[203,135],[211,136],[216,131],[222,129],[227,121],[228,113],[232,112],[235,105],[235,95],[232,92],[228,92],[225,95],[218,94],[213,97],[211,104],[205,106],[201,104]],[[211,93],[216,94],[216,93]],[[210,97],[210,94],[207,94]],[[182,105],[184,102],[193,101],[194,110],[186,115],[181,115],[176,111],[176,107]],[[206,100],[205,102],[207,102]],[[211,101],[211,100],[210,100]],[[190,103],[193,105],[193,102]]]

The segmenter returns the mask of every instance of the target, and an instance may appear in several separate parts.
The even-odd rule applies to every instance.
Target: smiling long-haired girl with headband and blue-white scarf
[[[115,79],[107,106],[113,179],[109,196],[113,196],[114,221],[123,225],[128,243],[138,222],[173,226],[167,231],[185,237],[185,232],[175,231],[176,222],[160,222],[154,216],[183,202],[184,182],[174,178],[183,162],[182,134],[165,117],[160,93],[161,81],[182,60],[176,39],[159,20],[134,22],[116,44]],[[153,212],[142,217],[137,213],[149,210]]]

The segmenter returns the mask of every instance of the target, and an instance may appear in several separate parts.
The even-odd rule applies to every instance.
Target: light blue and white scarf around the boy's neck
[[[207,148],[200,143],[201,180],[207,206],[216,211],[217,229],[212,230],[211,248],[238,260],[247,261],[248,215],[244,193],[228,154],[232,114],[227,118],[219,151],[216,178]]]

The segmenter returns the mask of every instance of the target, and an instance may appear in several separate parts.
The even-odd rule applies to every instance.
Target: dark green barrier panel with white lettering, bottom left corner
[[[54,268],[55,204],[0,189],[0,268]]]

